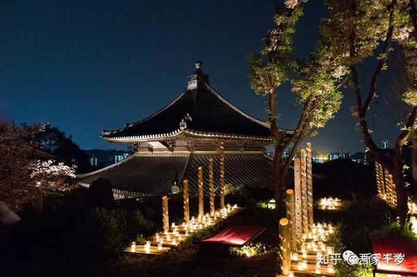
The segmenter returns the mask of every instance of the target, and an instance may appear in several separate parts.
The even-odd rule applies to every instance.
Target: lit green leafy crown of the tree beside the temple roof
[[[291,82],[296,94],[295,103],[302,110],[293,140],[298,135],[315,134],[316,128],[324,127],[334,117],[342,99],[338,88],[348,72],[345,65],[332,58],[329,47],[320,41],[308,62],[293,58],[295,24],[303,15],[300,2],[286,1],[286,8],[277,8],[275,28],[268,31],[261,56],[250,56],[249,73],[252,89],[263,95],[275,94],[282,83]],[[275,103],[271,105],[275,106]],[[270,118],[277,118],[277,115]]]

